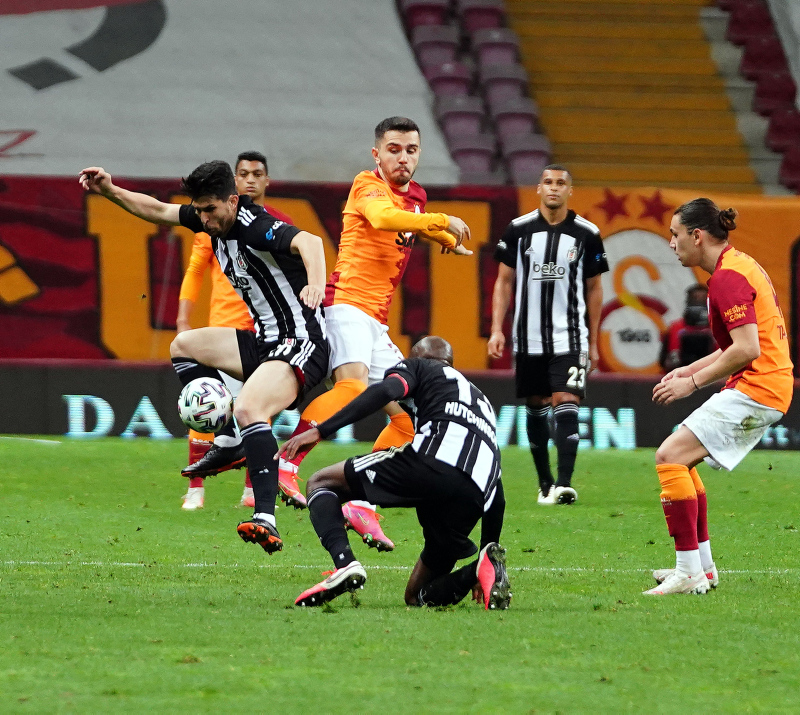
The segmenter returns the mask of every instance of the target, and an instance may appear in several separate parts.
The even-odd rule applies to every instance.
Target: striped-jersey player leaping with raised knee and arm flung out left
[[[239,524],[238,532],[267,553],[279,551],[278,443],[270,420],[299,402],[328,372],[320,307],[326,280],[322,239],[275,218],[249,196],[239,196],[233,171],[224,161],[201,164],[183,180],[189,205],[122,189],[100,167],[84,169],[79,181],[87,191],[145,221],[180,224],[211,237],[220,267],[247,305],[256,332],[187,330],[172,342],[170,353],[184,385],[198,377],[220,379],[220,370],[244,381],[234,414],[253,483],[255,514]]]

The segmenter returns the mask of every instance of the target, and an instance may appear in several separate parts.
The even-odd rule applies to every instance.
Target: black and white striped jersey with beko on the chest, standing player
[[[574,211],[553,226],[537,209],[509,224],[494,257],[516,271],[514,353],[588,352],[586,281],[608,270],[597,226]]]

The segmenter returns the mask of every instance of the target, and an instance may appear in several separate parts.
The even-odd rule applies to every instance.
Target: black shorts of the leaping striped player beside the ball
[[[313,390],[328,376],[328,341],[306,340],[303,338],[286,338],[264,342],[256,338],[250,330],[237,330],[236,340],[239,343],[239,357],[242,361],[242,373],[245,382],[258,366],[271,360],[288,363],[297,376],[299,389],[297,399],[289,405],[295,407],[305,395]]]

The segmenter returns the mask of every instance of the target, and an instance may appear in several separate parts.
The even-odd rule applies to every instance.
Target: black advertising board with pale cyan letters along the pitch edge
[[[495,408],[500,446],[527,448],[525,406],[514,396],[513,373],[496,370],[467,375]],[[180,383],[169,364],[6,360],[0,361],[0,384],[9,404],[17,406],[0,413],[0,434],[63,435],[73,439],[186,436],[177,410]],[[646,376],[593,375],[588,398],[579,410],[579,448],[656,447],[712,392],[703,390],[664,408],[651,400],[653,384],[654,380]],[[278,438],[288,438],[298,419],[296,410],[281,413],[273,425]],[[373,415],[341,430],[335,439],[341,443],[373,441],[385,424],[382,413]],[[800,406],[792,406],[764,436],[761,446],[800,449]]]

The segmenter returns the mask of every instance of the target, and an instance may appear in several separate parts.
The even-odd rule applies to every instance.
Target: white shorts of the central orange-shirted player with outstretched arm
[[[330,369],[360,362],[369,369],[368,382],[383,380],[384,373],[403,360],[403,353],[389,338],[389,328],[354,305],[325,308],[325,326],[331,345]]]

